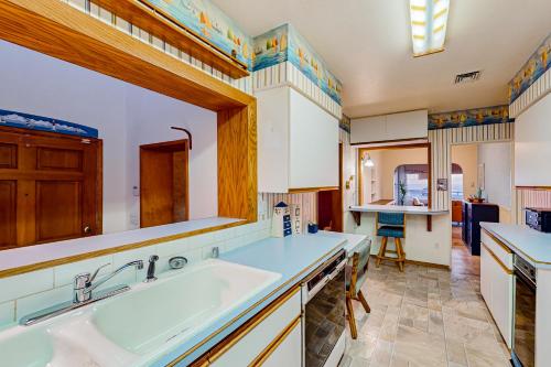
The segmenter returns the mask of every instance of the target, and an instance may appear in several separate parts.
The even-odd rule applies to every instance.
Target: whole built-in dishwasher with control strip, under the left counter
[[[344,354],[346,255],[325,261],[302,283],[303,366],[336,367]]]

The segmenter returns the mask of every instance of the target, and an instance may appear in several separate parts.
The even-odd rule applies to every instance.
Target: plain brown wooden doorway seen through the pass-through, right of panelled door
[[[140,227],[188,218],[188,140],[140,145]]]

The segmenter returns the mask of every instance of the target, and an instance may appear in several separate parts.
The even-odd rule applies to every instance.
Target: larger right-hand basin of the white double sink
[[[90,323],[111,343],[143,355],[175,337],[185,342],[280,277],[210,259],[96,305]]]

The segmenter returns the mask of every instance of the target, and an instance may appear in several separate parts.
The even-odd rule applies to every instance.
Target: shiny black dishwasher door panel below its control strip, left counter
[[[345,271],[342,268],[306,303],[304,312],[305,365],[323,367],[346,327]]]

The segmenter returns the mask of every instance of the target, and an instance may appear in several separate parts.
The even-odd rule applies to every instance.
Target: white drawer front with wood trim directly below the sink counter
[[[209,356],[212,366],[250,365],[269,349],[270,344],[276,343],[278,336],[281,336],[300,315],[301,292],[296,289],[284,303],[272,310],[266,319],[236,336],[236,343],[229,342],[229,348],[220,348]]]

